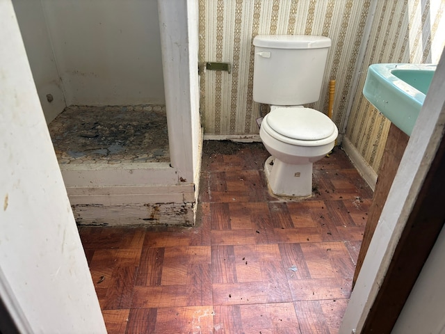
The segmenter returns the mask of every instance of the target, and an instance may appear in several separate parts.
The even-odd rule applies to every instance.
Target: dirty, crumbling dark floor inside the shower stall
[[[164,105],[69,106],[48,128],[59,164],[170,161]]]

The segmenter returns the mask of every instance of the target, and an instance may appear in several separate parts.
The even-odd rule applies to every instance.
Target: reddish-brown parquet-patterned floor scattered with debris
[[[335,148],[275,198],[266,157],[204,142],[195,228],[79,228],[108,333],[337,333],[372,191]]]

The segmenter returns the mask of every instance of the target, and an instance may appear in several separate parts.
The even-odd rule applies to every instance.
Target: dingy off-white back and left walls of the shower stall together
[[[156,1],[13,4],[47,122],[73,104],[165,104]]]

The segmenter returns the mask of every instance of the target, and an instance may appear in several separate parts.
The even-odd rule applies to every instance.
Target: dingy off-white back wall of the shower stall
[[[156,0],[41,2],[67,105],[164,103]]]

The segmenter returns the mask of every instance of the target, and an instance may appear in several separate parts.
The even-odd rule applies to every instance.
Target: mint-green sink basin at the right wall
[[[436,65],[374,64],[369,66],[363,95],[386,118],[411,136]]]

